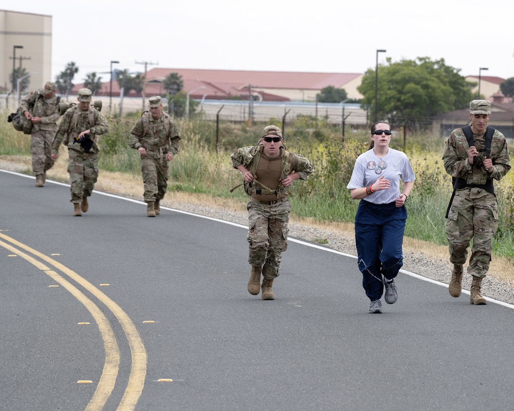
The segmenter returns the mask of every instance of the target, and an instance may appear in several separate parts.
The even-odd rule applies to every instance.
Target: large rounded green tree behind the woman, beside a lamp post
[[[402,60],[378,67],[378,102],[375,107],[376,72],[368,69],[357,90],[364,96],[361,106],[372,117],[420,119],[466,107],[473,99],[473,83],[466,82],[460,69],[447,66],[444,59],[427,57]]]

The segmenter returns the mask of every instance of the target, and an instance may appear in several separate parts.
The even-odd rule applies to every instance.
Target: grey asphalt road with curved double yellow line
[[[69,198],[0,171],[2,410],[514,407],[510,305],[401,272],[369,314],[356,259],[294,238],[262,301],[245,227]]]

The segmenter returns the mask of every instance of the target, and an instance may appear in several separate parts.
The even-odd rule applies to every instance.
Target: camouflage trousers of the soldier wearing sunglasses
[[[282,252],[287,250],[287,224],[291,204],[286,199],[274,204],[250,200],[247,205],[248,263],[263,266],[262,273],[268,279],[279,276]]]

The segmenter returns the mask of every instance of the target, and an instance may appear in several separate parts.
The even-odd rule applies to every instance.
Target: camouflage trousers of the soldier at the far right
[[[498,229],[498,202],[496,196],[483,189],[457,190],[446,221],[450,261],[463,265],[471,256],[468,274],[482,278],[489,270],[492,237]]]

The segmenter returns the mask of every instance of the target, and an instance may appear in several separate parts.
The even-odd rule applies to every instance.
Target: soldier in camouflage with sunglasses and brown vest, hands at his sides
[[[268,125],[257,146],[239,148],[230,156],[234,169],[243,173],[245,190],[251,196],[247,205],[248,263],[252,266],[248,292],[259,294],[262,274],[263,300],[275,299],[273,279],[279,276],[282,252],[287,249],[288,188],[294,180],[305,180],[314,171],[309,160],[286,152],[282,142],[282,130]]]

